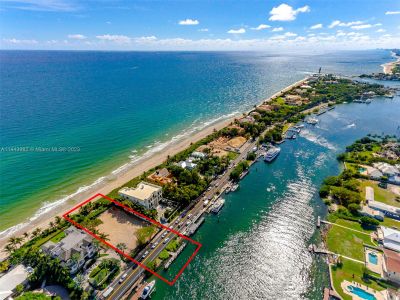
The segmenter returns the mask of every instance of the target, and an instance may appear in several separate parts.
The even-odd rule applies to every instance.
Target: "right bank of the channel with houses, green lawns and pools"
[[[327,255],[332,299],[398,299],[400,140],[370,135],[338,159],[343,172],[320,189],[330,212],[324,244],[310,251]]]

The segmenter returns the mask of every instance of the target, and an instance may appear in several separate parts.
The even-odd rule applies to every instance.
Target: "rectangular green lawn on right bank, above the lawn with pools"
[[[327,235],[327,247],[330,251],[364,261],[364,246],[375,246],[370,236],[343,227],[332,225]]]

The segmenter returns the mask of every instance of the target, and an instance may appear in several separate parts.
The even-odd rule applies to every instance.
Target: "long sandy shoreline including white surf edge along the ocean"
[[[272,99],[279,97],[282,93],[287,92],[288,90],[301,85],[305,80],[307,80],[309,76],[306,76],[305,78],[298,80],[291,85],[283,88],[282,90],[274,93],[268,98],[263,99],[261,102],[259,102],[257,105],[263,104],[265,102],[271,101]],[[250,108],[249,110],[246,111],[246,113],[249,113],[252,111],[254,108]],[[187,137],[182,138],[182,140],[176,141],[175,143],[173,142],[173,139],[170,141],[170,144],[168,144],[165,148],[160,149],[157,152],[150,153],[148,156],[146,156],[146,153],[143,154],[137,161],[134,162],[128,162],[125,165],[132,164],[131,168],[129,168],[125,172],[117,172],[117,175],[114,175],[114,172],[120,170],[123,168],[125,165],[119,166],[117,169],[111,172],[111,174],[105,175],[104,177],[98,178],[94,182],[92,182],[90,185],[86,186],[87,188],[84,189],[84,187],[78,188],[78,190],[75,193],[72,193],[62,199],[56,200],[54,202],[49,203],[50,208],[46,207],[41,207],[38,211],[35,212],[35,215],[43,210],[44,212],[37,216],[37,217],[32,217],[31,219],[23,222],[16,224],[12,227],[9,227],[5,229],[4,231],[1,232],[0,234],[0,249],[3,249],[4,246],[7,244],[7,240],[11,236],[20,236],[23,233],[31,233],[33,230],[36,228],[41,228],[44,229],[48,227],[49,222],[53,221],[56,216],[61,216],[65,211],[70,209],[71,207],[81,203],[82,201],[90,198],[94,194],[100,193],[107,195],[110,193],[112,190],[124,185],[127,183],[129,180],[131,180],[134,177],[137,177],[141,175],[143,172],[154,168],[160,164],[162,164],[168,156],[173,156],[180,151],[185,150],[187,147],[190,146],[191,143],[195,143],[208,135],[212,134],[214,130],[221,130],[222,128],[228,126],[231,122],[234,121],[235,118],[238,116],[241,116],[242,113],[231,113],[228,114],[227,118],[224,120],[218,120],[219,118],[222,118],[223,116],[217,118],[214,123],[211,122],[211,124],[207,125],[206,127],[196,131],[194,129],[193,133],[190,133]],[[179,134],[178,134],[179,135]],[[112,176],[114,175],[114,176]],[[110,178],[114,177],[114,178]],[[101,186],[100,186],[101,185]],[[100,187],[99,187],[100,186]],[[73,199],[72,199],[73,198]],[[49,217],[49,215],[51,215]],[[7,254],[4,251],[0,251],[0,260],[5,258]]]

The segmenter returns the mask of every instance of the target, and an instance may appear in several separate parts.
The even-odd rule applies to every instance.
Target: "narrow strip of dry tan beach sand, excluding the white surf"
[[[292,89],[293,87],[301,85],[307,78],[299,80],[283,90],[273,94],[271,97],[268,97],[260,102],[260,104],[270,101],[276,97],[279,97],[282,93]],[[249,109],[249,111],[253,110],[253,108]],[[249,112],[248,111],[248,112]],[[137,177],[143,172],[154,168],[160,164],[162,164],[168,156],[173,156],[180,151],[188,148],[190,144],[197,142],[198,140],[205,138],[214,132],[214,130],[220,130],[226,126],[228,126],[235,118],[241,116],[242,114],[238,114],[235,117],[231,117],[229,119],[220,121],[218,123],[214,123],[198,132],[191,134],[190,136],[177,141],[175,143],[171,143],[165,149],[152,154],[151,157],[145,157],[143,159],[138,160],[129,170],[125,173],[118,174],[117,176],[107,177],[107,180],[99,185],[95,185],[92,188],[83,191],[73,197],[73,199],[69,199],[64,203],[54,207],[51,211],[46,214],[38,217],[37,219],[23,223],[16,229],[11,235],[3,235],[0,236],[0,249],[3,249],[7,244],[10,236],[21,236],[23,233],[28,232],[31,233],[36,228],[45,229],[49,226],[49,222],[54,220],[55,216],[61,216],[63,213],[74,207],[75,205],[81,203],[82,201],[92,197],[93,195],[100,193],[106,195],[113,191],[114,189],[124,185],[126,182],[130,181],[132,178]],[[0,260],[6,257],[7,254],[4,251],[0,251]]]

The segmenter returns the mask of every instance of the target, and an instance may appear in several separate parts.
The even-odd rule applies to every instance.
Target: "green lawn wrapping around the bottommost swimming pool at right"
[[[363,281],[363,273],[364,273],[364,264],[360,264],[348,259],[343,259],[342,260],[342,267],[336,267],[336,266],[331,266],[331,271],[332,271],[332,280],[333,280],[333,286],[336,290],[336,292],[339,293],[340,296],[343,297],[343,300],[351,300],[351,297],[347,294],[345,294],[342,291],[342,288],[340,287],[340,284],[343,280],[347,281],[356,281],[358,283],[361,283],[363,285],[366,285],[370,288],[373,288],[374,290],[381,291],[384,290],[384,288],[376,283],[376,281],[370,280],[368,283]],[[354,275],[354,278],[353,278]]]

